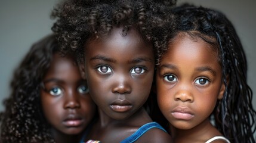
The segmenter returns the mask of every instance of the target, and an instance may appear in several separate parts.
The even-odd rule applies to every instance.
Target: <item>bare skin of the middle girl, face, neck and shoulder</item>
[[[123,36],[122,27],[114,27],[107,38],[85,44],[82,71],[100,116],[87,139],[121,142],[152,122],[143,104],[150,94],[154,68],[152,45],[134,29]],[[136,142],[170,141],[171,136],[153,128]]]

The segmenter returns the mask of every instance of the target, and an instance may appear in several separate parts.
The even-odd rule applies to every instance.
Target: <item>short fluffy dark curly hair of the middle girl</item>
[[[57,33],[63,54],[84,60],[84,45],[89,39],[109,35],[113,27],[123,26],[123,35],[131,27],[146,42],[154,42],[152,31],[161,33],[168,14],[166,6],[175,0],[67,0],[55,7],[52,30]]]

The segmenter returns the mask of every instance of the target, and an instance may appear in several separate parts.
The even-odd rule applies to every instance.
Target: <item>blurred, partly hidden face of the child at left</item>
[[[95,104],[78,66],[54,54],[43,82],[42,109],[53,129],[69,135],[81,133],[94,116]]]

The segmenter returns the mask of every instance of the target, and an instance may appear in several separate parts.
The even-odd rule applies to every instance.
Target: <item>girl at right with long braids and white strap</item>
[[[174,142],[255,142],[246,58],[232,23],[193,5],[173,11],[178,24],[166,25],[156,86]]]

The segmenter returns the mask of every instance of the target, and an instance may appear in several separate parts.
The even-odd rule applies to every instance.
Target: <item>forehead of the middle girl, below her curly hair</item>
[[[91,52],[113,50],[113,54],[128,54],[135,51],[153,51],[153,45],[144,41],[140,33],[134,28],[124,35],[122,27],[114,27],[111,33],[97,39],[90,39],[85,43],[85,55]],[[135,50],[135,51],[134,51]],[[145,52],[145,54],[150,53]]]

